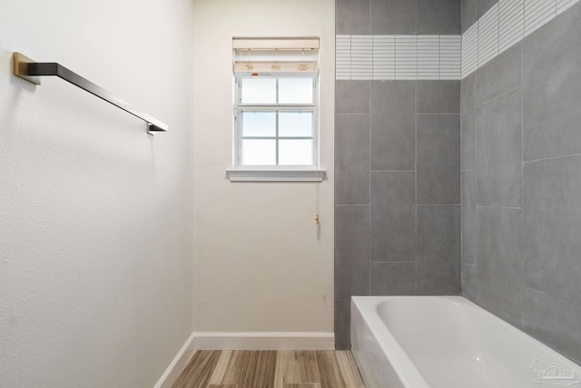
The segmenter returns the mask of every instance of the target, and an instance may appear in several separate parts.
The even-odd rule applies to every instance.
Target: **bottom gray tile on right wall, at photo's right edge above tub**
[[[523,330],[581,363],[581,308],[525,287]]]

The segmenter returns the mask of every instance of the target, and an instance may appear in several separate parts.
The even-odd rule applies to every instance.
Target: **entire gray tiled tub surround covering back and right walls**
[[[463,293],[581,361],[581,5],[534,3],[337,1],[338,349],[351,295]],[[352,35],[459,34],[458,80],[358,78]]]

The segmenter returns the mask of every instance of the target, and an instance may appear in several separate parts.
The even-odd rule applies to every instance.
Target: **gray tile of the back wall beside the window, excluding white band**
[[[459,0],[336,6],[337,34],[460,34]],[[336,82],[337,349],[351,295],[460,293],[459,109],[459,81]]]

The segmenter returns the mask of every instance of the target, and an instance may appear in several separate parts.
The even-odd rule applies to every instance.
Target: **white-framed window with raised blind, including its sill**
[[[229,175],[318,171],[318,47],[318,39],[233,40],[235,141]]]

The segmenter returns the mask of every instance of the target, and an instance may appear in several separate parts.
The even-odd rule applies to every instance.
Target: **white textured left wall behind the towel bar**
[[[192,333],[192,56],[191,0],[0,2],[0,386],[153,386]]]

